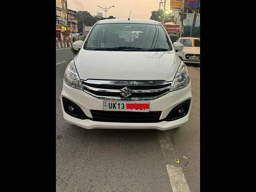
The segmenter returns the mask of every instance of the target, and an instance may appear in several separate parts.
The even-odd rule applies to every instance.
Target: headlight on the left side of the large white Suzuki
[[[82,90],[82,84],[79,79],[78,73],[76,71],[74,60],[72,60],[66,68],[66,71],[64,74],[64,81],[69,86]]]

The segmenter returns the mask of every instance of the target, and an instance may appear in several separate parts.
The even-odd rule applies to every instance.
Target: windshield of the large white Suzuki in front
[[[172,46],[164,28],[155,24],[96,24],[85,50],[170,51]]]

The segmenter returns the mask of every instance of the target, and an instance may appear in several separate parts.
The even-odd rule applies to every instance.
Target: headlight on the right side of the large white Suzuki
[[[180,62],[180,66],[174,77],[170,91],[182,89],[188,86],[189,82],[190,82],[190,73],[188,71],[188,67],[183,62]]]

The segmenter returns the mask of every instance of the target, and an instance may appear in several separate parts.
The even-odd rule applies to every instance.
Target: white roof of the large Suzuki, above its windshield
[[[97,22],[97,24],[106,24],[106,23],[140,23],[140,24],[155,24],[155,25],[161,25],[160,22],[155,20],[147,20],[147,19],[105,19],[100,20]]]

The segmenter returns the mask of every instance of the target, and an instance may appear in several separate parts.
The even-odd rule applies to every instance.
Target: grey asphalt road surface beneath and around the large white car
[[[184,126],[164,132],[86,130],[62,117],[62,80],[73,57],[69,49],[56,50],[56,63],[66,61],[56,64],[56,191],[176,192],[179,185],[180,192],[199,192],[200,67],[188,67],[193,103],[190,120]],[[181,168],[178,176],[168,174],[166,165]],[[182,174],[186,182],[178,180]]]

